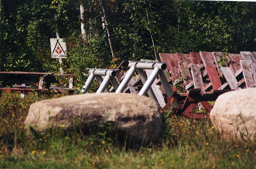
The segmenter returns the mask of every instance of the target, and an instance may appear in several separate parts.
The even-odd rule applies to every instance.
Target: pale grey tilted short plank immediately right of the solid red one
[[[237,90],[237,80],[230,67],[220,67],[220,71],[223,73],[229,87],[233,90]]]

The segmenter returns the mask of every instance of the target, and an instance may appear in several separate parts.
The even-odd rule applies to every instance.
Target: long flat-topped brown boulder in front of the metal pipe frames
[[[127,134],[133,143],[148,143],[154,142],[161,134],[162,113],[158,104],[146,96],[83,94],[32,104],[25,128],[44,132],[61,127],[68,131],[74,122],[85,128],[111,123],[112,130]]]

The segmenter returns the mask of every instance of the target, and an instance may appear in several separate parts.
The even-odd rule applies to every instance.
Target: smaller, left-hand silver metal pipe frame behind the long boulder
[[[91,69],[89,70],[89,77],[88,79],[85,81],[84,86],[81,90],[82,93],[85,93],[88,91],[88,89],[90,88],[90,86],[92,85],[92,82],[94,80],[94,78],[96,78],[96,80],[99,82],[100,87],[97,90],[96,93],[100,93],[100,92],[109,92],[107,86],[108,83],[111,82],[111,84],[113,85],[114,89],[116,90],[119,86],[119,84],[117,83],[115,76],[117,75],[117,73],[113,70],[97,70],[97,69]],[[106,76],[103,80],[103,78],[101,76]]]

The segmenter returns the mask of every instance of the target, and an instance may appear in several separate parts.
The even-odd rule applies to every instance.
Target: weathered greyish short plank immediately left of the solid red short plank
[[[201,92],[204,93],[204,84],[200,71],[200,66],[196,64],[190,64],[191,75],[194,81],[194,88],[200,88]]]

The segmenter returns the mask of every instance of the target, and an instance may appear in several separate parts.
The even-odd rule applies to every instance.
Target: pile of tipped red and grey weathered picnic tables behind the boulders
[[[157,101],[163,109],[179,102],[180,107],[175,109],[189,118],[207,118],[211,110],[209,101],[216,100],[224,92],[252,88],[256,84],[255,52],[159,53],[159,57],[161,62],[167,63],[166,78],[174,93],[172,97],[166,97],[161,82],[156,79],[155,86],[152,88]],[[150,71],[146,73],[150,75]],[[129,87],[135,87],[138,91],[139,84],[141,84],[140,79],[137,78]],[[126,92],[129,91],[126,90]],[[137,93],[135,90],[133,92]],[[208,114],[191,113],[199,103]]]

